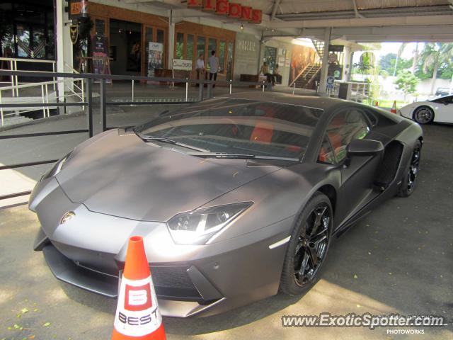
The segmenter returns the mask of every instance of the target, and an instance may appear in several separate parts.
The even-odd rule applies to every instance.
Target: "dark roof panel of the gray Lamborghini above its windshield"
[[[251,101],[263,101],[268,103],[282,103],[289,105],[307,106],[310,108],[319,108],[328,111],[330,108],[340,106],[341,104],[351,104],[350,101],[343,101],[337,98],[328,98],[321,96],[300,96],[294,94],[284,94],[281,92],[271,91],[249,91],[225,96],[215,96],[215,98],[237,98],[248,99]]]

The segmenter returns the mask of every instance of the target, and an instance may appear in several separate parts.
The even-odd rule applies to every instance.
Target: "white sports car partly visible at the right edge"
[[[401,108],[398,113],[418,124],[453,123],[453,95],[411,103]]]

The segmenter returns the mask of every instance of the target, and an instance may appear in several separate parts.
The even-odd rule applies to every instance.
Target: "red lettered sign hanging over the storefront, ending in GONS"
[[[259,24],[263,20],[263,11],[260,9],[242,6],[228,0],[188,0],[187,6],[188,8],[214,12],[219,16],[229,16],[249,23]]]

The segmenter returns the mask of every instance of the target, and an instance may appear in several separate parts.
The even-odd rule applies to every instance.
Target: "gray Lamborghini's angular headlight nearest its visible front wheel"
[[[234,203],[183,212],[168,221],[168,229],[177,244],[205,244],[252,204]]]

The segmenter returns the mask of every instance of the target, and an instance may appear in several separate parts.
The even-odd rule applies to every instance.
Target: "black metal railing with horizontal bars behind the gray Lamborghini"
[[[26,103],[25,105],[28,107],[35,107],[35,108],[50,108],[50,107],[68,107],[68,106],[84,106],[86,107],[86,128],[80,130],[67,130],[67,131],[53,131],[53,132],[35,132],[35,133],[25,133],[25,134],[17,134],[17,135],[0,135],[0,140],[9,140],[14,138],[27,138],[27,137],[44,137],[44,136],[52,136],[52,135],[68,135],[68,134],[76,134],[76,133],[88,133],[88,137],[93,137],[93,81],[96,79],[100,82],[99,89],[100,89],[100,111],[101,111],[101,130],[106,131],[110,129],[115,129],[119,127],[108,126],[107,124],[107,107],[110,105],[121,106],[121,105],[168,105],[168,104],[185,104],[185,103],[193,103],[193,101],[188,101],[188,88],[190,84],[199,84],[198,89],[198,101],[202,101],[203,98],[211,98],[212,97],[212,86],[227,86],[229,88],[229,93],[232,93],[233,86],[240,86],[240,87],[248,87],[248,86],[259,86],[260,91],[265,91],[265,89],[271,89],[272,84],[267,83],[265,81],[259,82],[252,82],[252,81],[211,81],[211,80],[202,80],[202,79],[173,79],[173,78],[159,78],[159,77],[137,77],[137,76],[117,76],[117,75],[110,75],[110,74],[74,74],[74,73],[57,73],[57,72],[29,72],[29,71],[5,71],[0,70],[0,76],[11,76],[11,77],[48,77],[52,79],[59,79],[62,78],[63,81],[65,79],[72,79],[74,83],[74,79],[77,81],[81,81],[82,85],[80,88],[84,89],[84,101],[77,102],[77,103],[67,103],[62,101],[57,101],[56,103]],[[131,101],[107,101],[106,97],[106,89],[105,84],[107,80],[130,80],[132,84],[135,81],[154,81],[159,84],[159,82],[166,82],[171,83],[174,82],[176,84],[183,83],[185,84],[185,96],[181,98],[181,101],[156,101],[156,102],[147,102],[147,101],[137,101],[135,100],[134,96],[132,96]],[[48,81],[49,84],[55,84],[58,81]],[[207,93],[205,96],[205,84],[207,85]],[[0,111],[3,112],[4,108],[18,108],[24,106],[23,103],[1,103],[0,101]],[[122,128],[129,128],[129,127],[122,127]],[[35,162],[27,162],[27,163],[18,163],[18,164],[9,164],[0,166],[0,170],[6,169],[18,169],[27,166],[37,166],[42,164],[51,164],[57,162],[57,159],[46,159],[40,160]],[[8,195],[0,196],[0,200],[6,200],[8,198],[16,198],[20,196],[27,196],[31,193],[31,191],[23,191],[21,193],[11,193]],[[21,203],[19,203],[21,204]],[[25,204],[25,203],[23,203]]]

